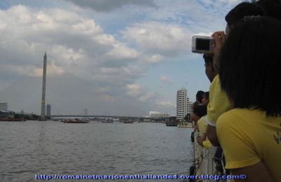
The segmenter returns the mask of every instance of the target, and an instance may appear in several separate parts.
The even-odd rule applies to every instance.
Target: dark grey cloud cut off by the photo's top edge
[[[135,5],[135,6],[147,6],[147,7],[156,7],[155,3],[152,0],[67,0],[72,1],[72,3],[80,6],[81,8],[91,8],[96,11],[111,11],[116,10],[117,8],[122,8],[126,5]]]

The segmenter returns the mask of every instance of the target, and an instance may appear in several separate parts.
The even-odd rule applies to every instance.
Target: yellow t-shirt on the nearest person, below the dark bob
[[[281,117],[266,117],[259,110],[232,109],[216,124],[226,168],[266,165],[274,181],[281,181]]]

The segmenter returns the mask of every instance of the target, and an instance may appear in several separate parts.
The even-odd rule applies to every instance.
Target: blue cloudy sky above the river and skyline
[[[44,52],[53,114],[176,115],[209,90],[191,36],[224,30],[241,0],[0,1],[0,102],[39,113]],[[27,89],[27,87],[29,89]]]

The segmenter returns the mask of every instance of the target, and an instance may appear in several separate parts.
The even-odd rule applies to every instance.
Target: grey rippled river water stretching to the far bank
[[[0,122],[0,130],[0,181],[42,181],[36,174],[188,174],[193,160],[192,130],[161,123]]]

